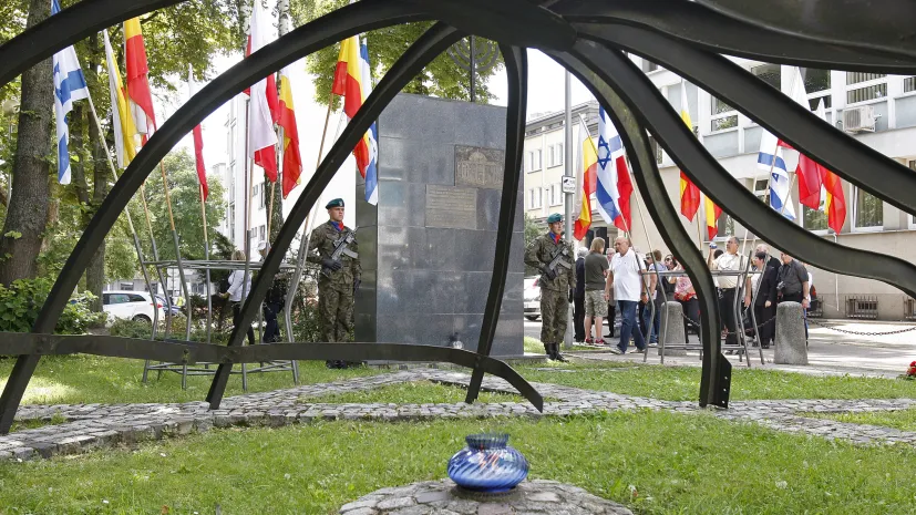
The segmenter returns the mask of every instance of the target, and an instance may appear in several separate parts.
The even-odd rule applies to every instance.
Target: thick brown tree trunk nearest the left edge
[[[49,17],[51,2],[29,2],[28,27]],[[7,219],[0,233],[0,284],[34,277],[45,229],[49,204],[49,159],[51,153],[54,85],[51,59],[22,74],[13,183]]]

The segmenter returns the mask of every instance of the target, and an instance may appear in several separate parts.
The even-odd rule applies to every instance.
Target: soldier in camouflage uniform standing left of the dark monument
[[[335,241],[350,230],[343,225],[343,199],[335,198],[327,206],[327,223],[311,231],[309,262],[321,265],[318,276],[318,316],[321,320],[321,338],[327,342],[350,341],[353,330],[353,295],[360,285],[362,272],[359,258],[342,255],[339,261],[331,259]],[[357,243],[348,247],[357,253]],[[343,369],[343,361],[328,361],[328,368]]]

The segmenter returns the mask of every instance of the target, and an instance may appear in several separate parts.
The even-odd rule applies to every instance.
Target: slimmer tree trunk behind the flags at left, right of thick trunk
[[[99,84],[99,75],[96,74],[100,62],[99,35],[93,34],[89,38],[89,60],[85,70],[86,84],[90,91],[102,91]],[[92,188],[92,214],[99,210],[105,195],[109,193],[109,177],[111,171],[105,158],[105,150],[100,143],[99,126],[92,119],[92,113],[89,115],[89,146],[92,148],[92,172],[93,172],[93,188]],[[86,268],[86,289],[96,298],[90,303],[90,309],[94,312],[102,312],[102,288],[105,286],[105,241],[99,246],[99,250],[92,256],[92,260]]]

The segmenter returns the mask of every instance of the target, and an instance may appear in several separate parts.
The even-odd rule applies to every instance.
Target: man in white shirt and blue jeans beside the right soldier
[[[649,301],[644,284],[646,265],[630,248],[627,238],[619,237],[614,240],[614,248],[617,254],[610,260],[605,291],[609,295],[610,288],[614,288],[614,298],[617,299],[622,323],[620,325],[620,343],[616,348],[611,348],[610,351],[615,354],[626,353],[630,343],[630,336],[632,336],[636,351],[646,352],[646,341],[636,321],[637,305],[640,300]]]

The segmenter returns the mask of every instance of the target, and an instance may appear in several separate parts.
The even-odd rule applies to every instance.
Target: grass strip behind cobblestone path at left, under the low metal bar
[[[0,360],[0,390],[16,362]],[[240,370],[238,365],[233,370]],[[299,362],[299,382],[303,384],[339,381],[349,378],[374,375],[384,371],[360,368],[329,370],[323,362]],[[23,404],[89,404],[122,402],[188,402],[203,401],[207,396],[213,375],[187,378],[187,390],[182,390],[182,378],[177,373],[163,372],[156,380],[156,372],[150,372],[150,381],[141,382],[143,361],[122,358],[104,358],[86,354],[54,356],[42,358],[32,377]],[[248,391],[264,392],[291,388],[291,372],[266,372],[248,375]],[[226,395],[241,392],[241,375],[229,378]],[[0,512],[2,514],[2,512]]]

